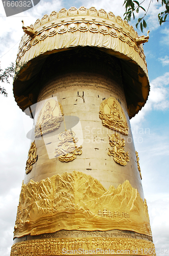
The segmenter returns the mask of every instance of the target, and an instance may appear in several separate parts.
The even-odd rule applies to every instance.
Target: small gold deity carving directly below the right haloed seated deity
[[[111,136],[108,135],[108,139],[110,146],[113,147],[112,150],[108,147],[108,156],[113,156],[115,162],[125,166],[129,162],[129,153],[128,151],[125,153],[124,150],[125,140],[116,133]]]

